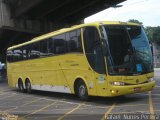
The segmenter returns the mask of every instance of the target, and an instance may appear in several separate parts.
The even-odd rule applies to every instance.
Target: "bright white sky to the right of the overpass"
[[[119,5],[123,6],[108,8],[85,18],[85,23],[136,19],[144,26],[160,26],[160,0],[127,0]]]

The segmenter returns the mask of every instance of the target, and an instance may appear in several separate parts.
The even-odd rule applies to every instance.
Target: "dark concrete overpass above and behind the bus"
[[[6,48],[63,27],[125,0],[0,0],[0,61]],[[3,59],[2,59],[3,58]]]

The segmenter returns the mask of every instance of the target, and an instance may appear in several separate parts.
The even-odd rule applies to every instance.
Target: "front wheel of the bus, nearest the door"
[[[80,100],[88,100],[88,90],[84,81],[78,81],[76,85],[76,94],[78,95]]]

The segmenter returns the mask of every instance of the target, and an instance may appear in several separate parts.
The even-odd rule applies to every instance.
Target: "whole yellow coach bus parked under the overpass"
[[[142,26],[94,22],[61,29],[7,50],[8,83],[20,91],[113,97],[155,87]]]

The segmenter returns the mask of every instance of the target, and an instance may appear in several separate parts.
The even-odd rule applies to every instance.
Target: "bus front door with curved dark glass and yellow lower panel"
[[[106,66],[104,55],[102,51],[102,44],[100,35],[96,27],[86,27],[83,29],[83,42],[85,54],[89,66],[92,68],[94,74],[94,84],[96,86],[96,94],[98,96],[105,96],[106,93]]]

